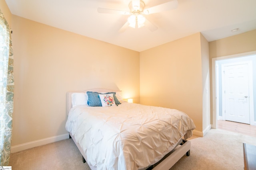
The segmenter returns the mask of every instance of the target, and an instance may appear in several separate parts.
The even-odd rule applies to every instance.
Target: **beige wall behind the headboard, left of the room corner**
[[[140,102],[139,53],[12,16],[12,146],[66,134],[66,93],[119,88]]]

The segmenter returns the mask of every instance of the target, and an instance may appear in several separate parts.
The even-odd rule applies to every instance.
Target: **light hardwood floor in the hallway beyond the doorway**
[[[233,121],[218,120],[218,129],[256,137],[256,126]]]

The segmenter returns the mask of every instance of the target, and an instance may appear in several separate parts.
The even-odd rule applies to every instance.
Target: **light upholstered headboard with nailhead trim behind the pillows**
[[[105,88],[94,88],[89,90],[81,90],[81,91],[69,91],[67,93],[67,114],[69,113],[70,109],[72,108],[72,99],[71,96],[73,93],[86,93],[86,92],[99,92],[99,93],[105,93],[105,92],[116,92],[119,93],[120,96],[122,96],[122,91],[120,90],[110,90]]]

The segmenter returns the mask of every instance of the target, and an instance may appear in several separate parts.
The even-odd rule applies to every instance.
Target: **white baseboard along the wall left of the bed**
[[[21,150],[26,150],[26,149],[30,149],[30,148],[34,148],[34,147],[38,147],[38,146],[42,146],[42,145],[46,145],[48,143],[53,143],[53,142],[61,141],[61,140],[68,139],[68,138],[69,138],[69,134],[66,133],[63,135],[48,137],[48,138],[40,139],[37,141],[23,143],[20,145],[15,145],[15,146],[11,147],[11,153],[19,152]]]

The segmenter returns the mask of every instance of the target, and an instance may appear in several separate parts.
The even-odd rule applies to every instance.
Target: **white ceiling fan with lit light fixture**
[[[154,14],[162,11],[175,9],[178,7],[178,1],[170,0],[168,2],[158,4],[150,8],[145,8],[146,5],[143,2],[143,0],[131,0],[128,7],[130,11],[98,8],[98,12],[104,13],[104,14],[121,14],[121,15],[129,16],[128,20],[121,27],[119,32],[124,32],[128,26],[133,28],[140,28],[140,27],[146,26],[150,31],[156,31],[158,27],[156,27],[156,25],[154,25],[149,20],[147,20],[144,15],[149,15],[149,14]]]

